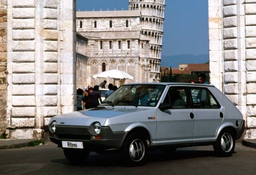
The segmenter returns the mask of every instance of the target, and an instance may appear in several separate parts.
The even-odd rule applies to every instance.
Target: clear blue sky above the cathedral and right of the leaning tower
[[[76,0],[77,11],[128,10],[129,0]],[[166,0],[162,56],[209,53],[208,0]]]

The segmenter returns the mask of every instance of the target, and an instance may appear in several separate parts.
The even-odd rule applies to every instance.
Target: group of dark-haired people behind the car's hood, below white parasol
[[[99,93],[99,88],[105,88],[106,80],[101,82],[99,85],[95,85],[93,88],[88,87],[85,90],[77,89],[77,111],[95,108],[102,103],[101,95]],[[113,84],[108,84],[108,91],[105,93],[105,98],[108,97],[112,92],[117,89],[117,86]]]

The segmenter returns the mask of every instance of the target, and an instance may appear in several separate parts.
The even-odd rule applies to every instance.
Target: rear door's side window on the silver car
[[[190,94],[193,108],[220,108],[218,101],[207,88],[191,87]]]

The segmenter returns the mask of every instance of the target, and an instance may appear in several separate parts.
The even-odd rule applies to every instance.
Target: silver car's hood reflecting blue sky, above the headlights
[[[136,107],[89,109],[52,117],[50,123],[55,120],[57,125],[89,126],[91,123],[97,121],[101,125],[104,125],[108,118],[130,115],[134,112],[145,112],[146,110],[149,109]]]

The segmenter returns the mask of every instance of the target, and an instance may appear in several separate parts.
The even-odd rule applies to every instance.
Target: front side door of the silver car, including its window
[[[189,108],[185,86],[171,86],[163,103],[166,108],[157,111],[156,144],[192,143],[193,111]]]

